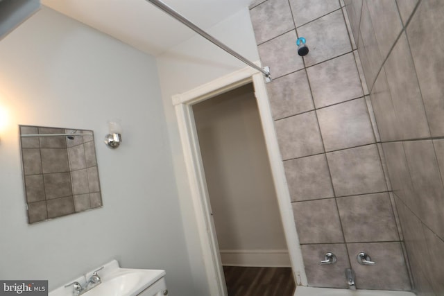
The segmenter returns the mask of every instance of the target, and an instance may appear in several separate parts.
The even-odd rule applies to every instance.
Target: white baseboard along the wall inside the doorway
[[[220,250],[222,265],[291,267],[287,250]]]

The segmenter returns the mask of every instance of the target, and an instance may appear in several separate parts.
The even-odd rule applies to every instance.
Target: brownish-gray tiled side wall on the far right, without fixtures
[[[346,0],[418,295],[444,295],[444,1]]]

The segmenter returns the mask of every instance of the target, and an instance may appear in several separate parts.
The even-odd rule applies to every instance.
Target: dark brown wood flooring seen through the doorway
[[[228,296],[293,296],[291,268],[223,266]]]

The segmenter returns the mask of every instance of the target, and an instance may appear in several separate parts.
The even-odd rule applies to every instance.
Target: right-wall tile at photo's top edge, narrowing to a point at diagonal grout
[[[402,30],[401,18],[395,0],[366,0],[375,30],[379,52],[386,58]],[[390,28],[389,30],[387,28]]]

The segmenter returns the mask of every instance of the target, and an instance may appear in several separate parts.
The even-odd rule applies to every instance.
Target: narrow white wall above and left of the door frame
[[[246,58],[252,61],[259,60],[248,8],[244,8],[212,28],[207,28],[207,33]],[[196,230],[198,228],[191,204],[187,170],[171,97],[233,71],[243,69],[246,65],[203,37],[196,35],[157,57],[157,67],[191,268],[196,287],[204,288],[207,285],[205,267],[202,261],[202,250]],[[205,293],[205,290],[200,290],[198,295],[208,295],[208,293]]]

